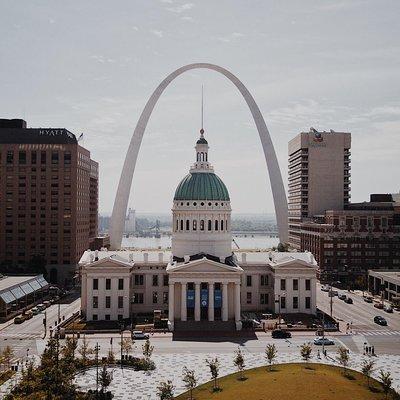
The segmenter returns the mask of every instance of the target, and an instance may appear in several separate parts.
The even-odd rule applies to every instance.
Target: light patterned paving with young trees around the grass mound
[[[335,360],[336,353],[328,357],[318,359],[314,355],[310,362],[321,362],[326,364],[338,365]],[[236,372],[233,365],[233,354],[207,354],[207,353],[181,353],[168,355],[154,355],[153,360],[156,363],[156,369],[150,372],[133,371],[131,369],[121,370],[120,368],[112,369],[113,381],[110,390],[114,394],[116,400],[150,400],[157,399],[156,387],[159,382],[171,380],[175,386],[175,395],[186,391],[182,381],[182,369],[187,366],[194,369],[198,378],[198,384],[208,382],[210,371],[205,360],[207,358],[218,357],[220,360],[220,376],[228,375]],[[248,354],[244,352],[246,369],[260,367],[266,365],[264,353]],[[350,353],[349,368],[360,370],[362,361],[367,358],[359,354]],[[397,391],[400,391],[400,357],[394,355],[383,355],[374,357],[376,371],[373,375],[377,377],[379,370],[390,371],[393,377],[393,386]],[[301,362],[300,356],[287,353],[279,354],[276,363],[292,363]],[[91,369],[84,374],[77,376],[76,383],[85,390],[96,388],[96,369]]]

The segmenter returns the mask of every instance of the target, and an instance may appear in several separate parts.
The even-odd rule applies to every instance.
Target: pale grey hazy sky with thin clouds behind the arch
[[[400,2],[0,0],[0,117],[84,132],[110,212],[131,134],[174,69],[219,64],[258,103],[287,184],[287,142],[352,132],[352,201],[400,189]],[[205,86],[210,160],[236,212],[273,212],[258,133],[213,71],[176,79],[150,119],[130,205],[168,211],[194,161]]]

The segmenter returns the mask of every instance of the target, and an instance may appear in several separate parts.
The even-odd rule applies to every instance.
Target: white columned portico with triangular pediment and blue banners
[[[243,269],[207,259],[171,263],[168,320],[175,322],[234,321],[241,329],[240,282]]]

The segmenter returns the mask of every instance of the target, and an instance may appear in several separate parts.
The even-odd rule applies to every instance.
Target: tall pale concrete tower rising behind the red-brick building
[[[348,132],[301,132],[289,142],[289,244],[300,250],[300,224],[350,199]]]

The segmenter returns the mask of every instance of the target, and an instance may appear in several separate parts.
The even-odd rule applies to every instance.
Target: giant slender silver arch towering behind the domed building
[[[140,115],[139,121],[136,124],[136,128],[133,132],[129,148],[126,153],[111,216],[110,244],[111,249],[113,250],[117,250],[121,247],[129,193],[132,186],[133,173],[135,172],[140,144],[142,143],[143,134],[150,119],[151,113],[155,105],[157,104],[157,101],[160,98],[161,94],[176,77],[191,69],[200,68],[211,69],[213,71],[219,72],[220,74],[228,78],[239,89],[239,92],[242,94],[247,105],[249,106],[250,112],[253,116],[258,133],[260,135],[261,144],[264,150],[265,161],[267,163],[272,196],[275,205],[279,239],[282,243],[286,243],[288,241],[288,208],[285,188],[283,186],[282,175],[279,169],[274,146],[272,144],[267,125],[265,124],[260,109],[258,108],[253,96],[250,94],[246,86],[244,86],[243,83],[227,69],[215,64],[195,63],[178,68],[170,75],[168,75],[158,85],[156,90],[151,95],[150,99],[147,101],[146,106],[144,107],[142,114]]]

